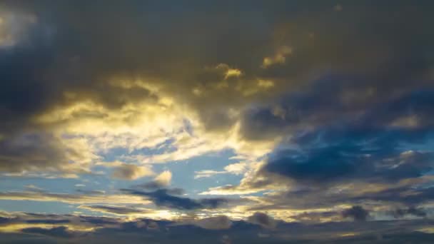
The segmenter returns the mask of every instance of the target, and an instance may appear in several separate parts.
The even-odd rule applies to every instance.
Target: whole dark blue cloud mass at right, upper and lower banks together
[[[406,149],[433,138],[432,88],[353,107],[335,101],[339,95],[333,88],[319,87],[301,97],[289,96],[277,111],[265,107],[248,113],[245,123],[254,126],[248,131],[266,131],[262,136],[270,130],[288,131],[293,136],[268,156],[260,175],[275,173],[300,183],[394,182],[433,168],[432,152]]]

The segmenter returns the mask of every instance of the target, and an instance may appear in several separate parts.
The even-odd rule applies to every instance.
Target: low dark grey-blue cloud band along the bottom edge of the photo
[[[410,240],[420,243],[421,240],[433,239],[430,226],[433,221],[426,220],[402,220],[399,225],[395,220],[383,221],[358,221],[327,222],[327,223],[285,223],[281,221],[272,230],[258,229],[257,224],[243,220],[230,220],[219,215],[211,218],[186,221],[154,220],[154,219],[130,219],[109,217],[91,217],[84,215],[56,215],[35,213],[9,213],[9,222],[1,223],[1,240],[16,242],[17,240],[37,243],[86,242],[93,243],[96,240],[104,243],[119,243],[121,240],[136,242],[156,241],[160,243],[173,243],[173,238],[183,243],[202,243],[204,240],[217,243],[221,240],[240,241],[253,243],[257,241],[258,233],[267,236],[267,243],[300,243],[314,241],[316,243],[383,243],[399,240]],[[32,220],[70,220],[69,223],[52,221],[51,224],[41,225]],[[30,220],[30,221],[29,221]],[[33,223],[27,223],[33,222]],[[261,223],[266,223],[260,221]],[[25,225],[24,225],[25,223]],[[46,221],[49,223],[49,221]],[[196,225],[196,226],[192,226]],[[258,232],[260,230],[260,232]],[[414,232],[414,230],[418,230]],[[423,232],[422,232],[423,231]],[[24,235],[25,234],[25,235]],[[222,238],[222,236],[225,236]],[[351,235],[350,237],[348,237]],[[230,238],[229,238],[230,236]],[[346,237],[345,237],[346,236]],[[434,239],[433,239],[434,240]]]

